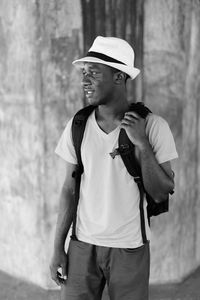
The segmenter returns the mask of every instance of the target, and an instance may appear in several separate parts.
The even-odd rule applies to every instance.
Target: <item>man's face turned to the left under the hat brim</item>
[[[110,67],[98,63],[85,63],[82,73],[82,86],[89,104],[102,105],[112,100],[114,81]]]

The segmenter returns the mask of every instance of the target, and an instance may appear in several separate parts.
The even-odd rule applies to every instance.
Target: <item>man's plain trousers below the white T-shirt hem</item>
[[[148,300],[149,243],[121,249],[71,240],[68,258],[62,300],[100,300],[106,283],[110,300]]]

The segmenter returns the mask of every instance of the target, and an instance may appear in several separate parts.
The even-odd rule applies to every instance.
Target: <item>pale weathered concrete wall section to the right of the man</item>
[[[200,264],[199,1],[147,0],[144,30],[145,101],[179,152],[170,213],[152,222],[151,281],[179,281]]]

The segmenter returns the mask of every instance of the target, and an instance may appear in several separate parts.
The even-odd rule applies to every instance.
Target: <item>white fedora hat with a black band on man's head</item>
[[[140,73],[140,70],[134,67],[134,60],[134,50],[125,40],[98,36],[87,55],[72,63],[80,68],[85,62],[104,64],[118,69],[134,79]]]

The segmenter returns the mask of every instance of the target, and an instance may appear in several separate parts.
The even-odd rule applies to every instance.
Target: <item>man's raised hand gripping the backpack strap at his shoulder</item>
[[[137,113],[129,111],[125,113],[121,122],[121,128],[126,130],[126,133],[130,141],[142,149],[148,142],[148,138],[145,133],[146,120],[141,118]]]

